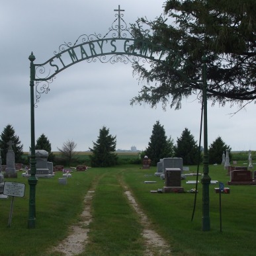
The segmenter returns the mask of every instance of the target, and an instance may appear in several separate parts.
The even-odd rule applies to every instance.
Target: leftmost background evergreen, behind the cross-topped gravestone
[[[11,124],[7,124],[0,136],[0,149],[3,165],[6,165],[6,155],[9,148],[7,143],[10,140],[14,143],[12,148],[13,152],[15,153],[15,163],[22,163],[23,145],[19,140],[19,136],[15,135],[13,126],[11,126]]]

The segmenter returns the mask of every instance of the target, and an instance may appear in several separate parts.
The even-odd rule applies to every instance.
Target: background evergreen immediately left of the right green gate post
[[[181,137],[177,138],[175,156],[183,158],[183,164],[195,165],[198,163],[198,146],[188,128],[183,130]]]

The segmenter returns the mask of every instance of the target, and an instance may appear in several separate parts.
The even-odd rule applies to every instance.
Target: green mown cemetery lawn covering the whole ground
[[[243,165],[243,161],[237,165]],[[227,185],[230,177],[223,165],[210,165],[211,179],[230,187],[230,194],[222,194],[220,232],[219,194],[214,191],[218,184],[210,185],[211,228],[202,232],[202,185],[198,184],[191,222],[194,194],[151,193],[164,186],[163,180],[154,176],[156,167],[140,167],[118,165],[73,171],[67,185],[58,183],[61,172],[50,179],[38,179],[36,228],[32,230],[27,228],[29,186],[19,172],[15,182],[25,183],[26,189],[23,198],[14,200],[11,227],[7,227],[11,197],[0,200],[0,255],[65,255],[58,251],[58,245],[72,234],[70,227],[87,231],[85,247],[78,255],[255,255],[255,186]],[[195,166],[189,168],[191,173],[196,173]],[[202,166],[199,172],[202,173]],[[187,177],[192,179],[196,177]],[[182,186],[190,191],[195,185],[184,180]],[[148,245],[142,235],[145,221],[132,207],[127,192],[147,216],[147,228],[163,237],[170,253],[164,251],[161,241],[159,247]],[[91,200],[86,201],[90,193]],[[88,206],[90,214],[84,212]],[[77,245],[78,240],[77,234]]]

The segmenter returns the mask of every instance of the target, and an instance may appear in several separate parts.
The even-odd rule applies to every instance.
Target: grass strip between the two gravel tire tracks
[[[117,170],[107,169],[99,180],[93,196],[89,243],[83,255],[143,255],[139,217],[118,183]]]

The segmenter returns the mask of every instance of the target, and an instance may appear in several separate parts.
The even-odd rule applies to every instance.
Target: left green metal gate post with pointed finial
[[[36,151],[34,139],[34,57],[33,53],[28,57],[30,60],[30,118],[31,118],[31,158],[30,158],[30,177],[28,178],[29,190],[29,210],[28,228],[36,227]]]

